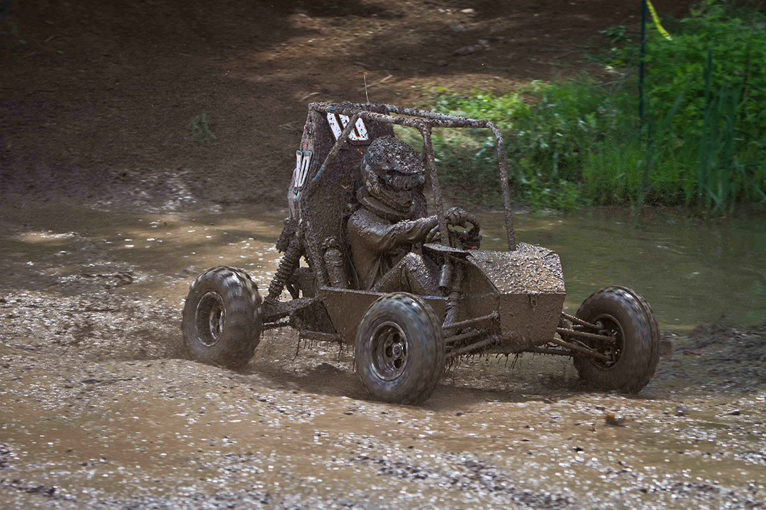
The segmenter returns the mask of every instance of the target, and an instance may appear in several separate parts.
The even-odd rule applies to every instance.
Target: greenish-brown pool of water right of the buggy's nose
[[[504,249],[502,218],[486,215],[487,249]],[[566,305],[579,304],[608,284],[636,289],[660,326],[689,330],[725,320],[759,323],[766,317],[766,219],[705,222],[656,213],[635,223],[627,213],[574,217],[522,216],[517,237],[561,256]]]

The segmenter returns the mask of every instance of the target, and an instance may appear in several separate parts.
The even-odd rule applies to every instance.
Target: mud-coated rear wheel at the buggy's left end
[[[253,357],[262,328],[258,289],[244,271],[220,265],[191,284],[183,333],[192,359],[241,369]]]

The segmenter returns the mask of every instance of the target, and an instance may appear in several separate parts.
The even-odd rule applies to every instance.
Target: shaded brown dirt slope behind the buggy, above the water
[[[434,86],[587,70],[597,31],[636,26],[637,3],[15,0],[0,21],[0,196],[281,203],[306,103],[362,101],[365,74],[371,100],[417,103]],[[203,112],[212,145],[191,141]]]

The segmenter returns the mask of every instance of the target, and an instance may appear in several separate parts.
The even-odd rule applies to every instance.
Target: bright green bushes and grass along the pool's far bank
[[[506,96],[445,93],[436,107],[499,125],[514,198],[534,209],[764,204],[766,17],[733,5],[706,0],[673,41],[650,39],[643,124],[634,76],[534,83]],[[603,34],[629,42],[622,27]],[[493,138],[454,131],[434,136],[440,175],[469,200],[499,203]]]

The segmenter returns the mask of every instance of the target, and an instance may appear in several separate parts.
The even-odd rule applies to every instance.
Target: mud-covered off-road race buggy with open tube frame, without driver
[[[375,138],[394,125],[417,129],[438,225],[421,246],[439,268],[437,295],[362,290],[345,227],[359,207],[359,164]],[[450,224],[437,177],[432,128],[486,128],[497,142],[507,252],[470,249],[470,235]],[[277,242],[279,267],[261,300],[250,277],[218,266],[191,284],[183,311],[188,352],[238,369],[264,330],[295,328],[302,339],[354,346],[355,369],[372,398],[417,404],[455,356],[480,353],[570,356],[585,382],[603,390],[640,391],[660,356],[660,333],[646,300],[605,287],[575,316],[563,313],[561,261],[551,250],[516,242],[506,153],[496,125],[385,104],[312,103],[288,189],[290,217]],[[468,225],[463,222],[463,227]],[[305,261],[305,265],[301,261]],[[284,300],[283,292],[290,294]]]

